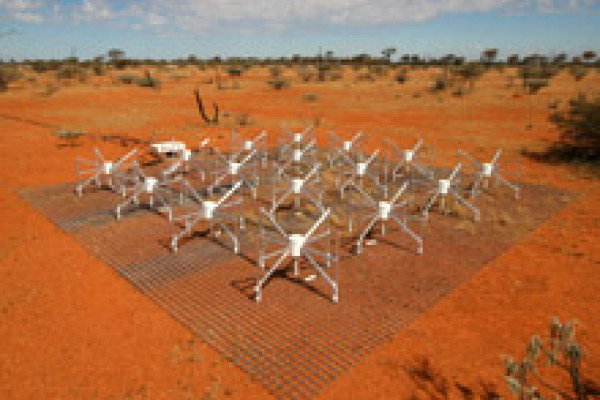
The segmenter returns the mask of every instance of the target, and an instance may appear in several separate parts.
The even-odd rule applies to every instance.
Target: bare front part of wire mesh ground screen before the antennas
[[[62,184],[21,195],[281,399],[317,395],[572,199],[524,184],[517,201],[509,195],[488,199],[493,207],[482,208],[477,223],[432,215],[422,255],[393,230],[360,255],[342,241],[338,303],[319,279],[282,272],[256,303],[253,289],[264,271],[256,265],[252,226],[241,235],[240,254],[202,231],[174,253],[172,226],[163,216],[136,210],[116,221],[122,198],[115,193],[79,197],[73,184]]]

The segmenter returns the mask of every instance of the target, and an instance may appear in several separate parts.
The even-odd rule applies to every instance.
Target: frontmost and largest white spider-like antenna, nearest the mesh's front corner
[[[338,268],[338,252],[339,240],[334,240],[335,244],[332,244],[333,230],[331,229],[330,213],[331,210],[326,209],[319,219],[306,231],[305,234],[292,233],[288,234],[283,227],[275,219],[275,215],[261,208],[261,217],[265,216],[273,226],[275,232],[265,229],[262,218],[259,224],[259,255],[258,265],[260,268],[265,270],[266,261],[273,257],[279,256],[277,261],[266,270],[266,273],[257,281],[254,291],[256,293],[256,301],[262,300],[262,290],[265,283],[271,278],[271,276],[278,269],[284,269],[289,264],[284,264],[288,258],[291,258],[294,275],[298,276],[300,273],[299,263],[302,259],[308,261],[309,265],[312,266],[315,271],[321,275],[325,281],[332,287],[333,295],[332,301],[337,303],[339,300],[339,280],[337,279]],[[324,227],[322,232],[318,232],[320,228]],[[314,245],[318,241],[325,241],[325,248],[318,249]],[[276,250],[267,251],[269,245],[275,245],[278,247]],[[321,263],[319,263],[321,261]],[[336,279],[334,280],[326,270],[330,270],[332,264],[336,264],[335,272]],[[317,275],[310,275],[304,279],[305,282],[310,282],[317,278]]]

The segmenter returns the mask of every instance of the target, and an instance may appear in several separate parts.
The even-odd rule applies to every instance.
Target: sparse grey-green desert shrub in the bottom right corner
[[[545,400],[564,398],[587,400],[600,395],[600,390],[582,376],[581,359],[583,350],[575,340],[577,322],[561,324],[554,317],[549,326],[549,337],[543,340],[533,336],[529,341],[522,361],[506,357],[505,380],[513,396],[520,400]],[[542,361],[565,373],[571,384],[570,390],[554,385],[541,376],[538,368]],[[550,397],[552,394],[552,397]]]

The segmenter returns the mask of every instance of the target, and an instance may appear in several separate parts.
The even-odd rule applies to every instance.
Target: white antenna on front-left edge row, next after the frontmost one
[[[188,181],[183,180],[183,191],[185,191],[186,194],[191,197],[192,201],[198,205],[198,208],[196,211],[186,213],[172,219],[171,222],[183,222],[184,226],[179,233],[171,236],[171,250],[176,252],[179,248],[179,240],[181,240],[181,238],[185,235],[190,234],[194,226],[200,221],[206,221],[209,223],[209,232],[214,231],[215,225],[220,226],[233,242],[233,252],[236,254],[239,253],[239,230],[234,228],[233,231],[235,231],[237,234],[234,233],[231,229],[229,229],[225,221],[229,220],[234,225],[239,223],[239,228],[244,228],[244,219],[242,216],[243,196],[239,196],[237,199],[232,198],[234,194],[238,192],[242,184],[243,182],[239,180],[218,200],[208,200],[207,198],[200,196],[200,194],[190,185]],[[239,207],[239,215],[237,217],[224,212],[224,210],[235,206]]]

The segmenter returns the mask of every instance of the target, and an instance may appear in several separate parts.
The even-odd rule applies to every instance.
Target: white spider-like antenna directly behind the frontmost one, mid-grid
[[[273,185],[273,192],[271,197],[271,213],[275,212],[283,202],[290,196],[293,196],[293,205],[296,209],[300,208],[300,198],[304,195],[315,207],[321,212],[325,211],[322,203],[323,191],[318,187],[313,187],[320,181],[319,169],[321,164],[316,164],[313,168],[302,178],[298,177],[279,177],[279,182],[285,183],[282,188],[278,185],[279,182],[275,182]]]

